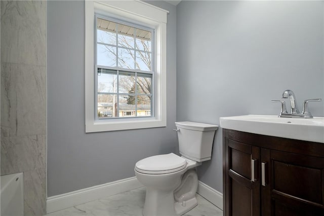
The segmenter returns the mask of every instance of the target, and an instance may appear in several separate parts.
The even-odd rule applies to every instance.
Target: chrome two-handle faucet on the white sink
[[[287,112],[286,102],[284,100],[271,100],[271,102],[281,102],[281,112],[278,117],[287,117],[287,118],[313,118],[312,114],[307,109],[307,104],[310,101],[321,101],[321,98],[318,99],[308,99],[303,102],[303,112],[299,113],[296,97],[292,90],[286,90],[282,93],[281,98],[289,98],[291,104],[291,113]]]

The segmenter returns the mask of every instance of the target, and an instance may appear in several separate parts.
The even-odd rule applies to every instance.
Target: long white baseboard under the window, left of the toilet
[[[143,187],[137,178],[130,177],[115,182],[97,185],[66,194],[60,194],[47,198],[47,213],[69,208],[82,203],[90,202],[103,197],[122,193],[132,189]]]

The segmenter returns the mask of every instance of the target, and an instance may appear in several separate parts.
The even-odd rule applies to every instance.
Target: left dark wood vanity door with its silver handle
[[[224,138],[225,215],[260,215],[260,148]]]

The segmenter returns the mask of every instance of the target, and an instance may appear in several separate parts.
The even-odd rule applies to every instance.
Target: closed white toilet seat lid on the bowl
[[[144,174],[167,174],[186,168],[187,161],[173,153],[155,155],[138,161],[135,170]]]

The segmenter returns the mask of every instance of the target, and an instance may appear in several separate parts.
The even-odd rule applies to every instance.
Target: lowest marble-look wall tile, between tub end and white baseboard
[[[46,214],[46,169],[24,172],[24,215]]]

